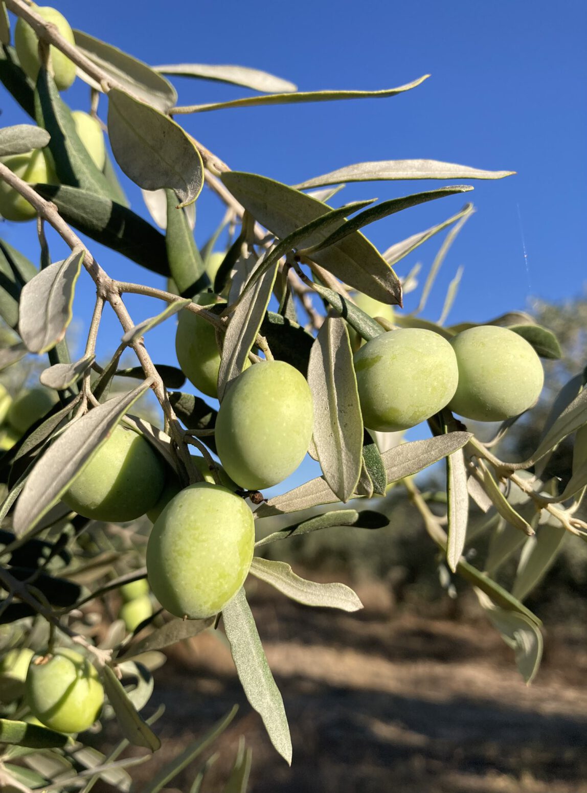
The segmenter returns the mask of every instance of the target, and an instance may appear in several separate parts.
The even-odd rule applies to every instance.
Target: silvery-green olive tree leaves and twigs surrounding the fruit
[[[39,67],[34,80],[30,69],[21,67],[11,44],[17,18],[26,21],[38,37]],[[129,584],[146,575],[144,528],[135,530],[132,524],[119,527],[118,534],[107,533],[103,524],[76,515],[61,500],[119,424],[132,427],[151,445],[178,489],[206,478],[227,485],[214,456],[217,410],[178,390],[185,381],[182,372],[167,362],[154,362],[148,352],[148,331],[174,322],[179,312],[191,312],[209,326],[209,337],[220,355],[213,385],[221,405],[236,388],[233,381],[263,361],[265,365],[290,364],[311,389],[314,419],[309,451],[320,462],[322,475],[269,500],[263,492],[232,482],[233,493],[254,510],[259,536],[248,572],[309,606],[359,610],[361,603],[351,589],[304,580],[289,565],[263,558],[262,549],[269,543],[340,526],[382,530],[388,520],[378,510],[377,498],[396,483],[405,488],[424,519],[451,574],[467,580],[477,592],[489,622],[515,651],[516,664],[529,682],[539,667],[543,638],[540,619],[524,606],[524,598],[543,577],[567,534],[577,535],[573,538],[577,541],[587,532],[587,525],[575,516],[587,485],[585,459],[562,490],[555,479],[540,478],[554,448],[587,422],[582,377],[574,377],[558,393],[538,446],[522,461],[502,460],[497,454],[516,416],[505,420],[489,442],[481,442],[474,434],[476,425],[463,425],[447,407],[428,418],[428,439],[397,445],[385,432],[366,431],[351,345],[357,349],[362,340],[369,342],[393,328],[433,331],[450,342],[478,324],[446,324],[458,275],[439,322],[420,316],[435,274],[452,239],[473,212],[472,205],[392,243],[383,252],[363,236],[362,229],[392,213],[473,188],[441,186],[380,203],[361,201],[339,208],[329,203],[347,182],[492,179],[510,172],[424,159],[389,160],[354,163],[296,186],[263,174],[235,172],[213,153],[213,142],[206,141],[208,147],[182,128],[183,115],[221,108],[237,113],[240,107],[251,105],[393,98],[415,90],[424,78],[389,90],[298,92],[292,83],[248,67],[195,63],[149,67],[87,33],[64,36],[59,25],[25,0],[0,3],[0,34],[0,79],[31,116],[29,125],[0,130],[0,155],[10,158],[42,149],[48,152],[54,170],[51,178],[39,182],[0,161],[0,179],[13,191],[10,195],[25,199],[33,208],[40,243],[38,261],[30,262],[0,239],[0,315],[8,328],[2,331],[2,377],[10,392],[7,398],[17,397],[17,377],[11,372],[26,355],[34,355],[36,362],[43,362],[41,384],[54,394],[51,407],[20,437],[8,439],[0,458],[6,483],[0,507],[0,619],[4,625],[0,688],[17,685],[17,695],[5,697],[2,706],[0,783],[21,791],[48,784],[52,789],[89,791],[102,777],[128,790],[132,778],[126,768],[145,757],[117,759],[126,745],[152,752],[160,745],[159,713],[145,719],[141,711],[152,693],[152,672],[165,660],[161,651],[203,630],[217,629],[219,623],[247,699],[263,718],[275,749],[291,761],[286,711],[244,588],[224,605],[221,614],[206,619],[182,619],[162,609],[153,613],[151,600],[147,612],[136,610],[139,617],[146,613],[144,619],[134,619],[136,624],[130,627],[118,619],[100,632],[93,617],[109,603],[120,602],[112,600],[117,593],[129,603],[138,600],[129,595]],[[77,79],[88,84],[90,114],[103,120],[113,159],[125,178],[144,191],[153,223],[129,206],[109,154],[97,163],[83,144],[56,85],[52,53],[67,56],[75,64]],[[228,82],[257,94],[228,102],[179,105],[175,87],[165,75]],[[71,72],[71,79],[74,76]],[[205,201],[203,186],[221,198],[226,212],[200,250],[194,241],[193,207],[195,201]],[[70,248],[62,261],[52,261],[47,227]],[[424,283],[418,309],[402,312],[403,294],[416,288],[416,274],[398,275],[394,268],[401,268],[402,259],[444,231],[447,237]],[[213,256],[218,256],[215,247],[226,232],[228,243],[220,265],[213,268]],[[91,240],[159,274],[161,288],[110,278],[94,258]],[[94,284],[95,305],[82,358],[71,361],[66,331],[75,288],[82,278]],[[154,301],[151,319],[133,323],[125,306],[128,294]],[[214,295],[224,300],[217,302]],[[278,303],[275,312],[268,309],[272,295]],[[382,309],[363,309],[363,298],[378,301]],[[121,342],[106,366],[98,366],[96,341],[106,305],[112,309],[112,321],[120,324]],[[389,306],[395,307],[392,319]],[[560,354],[552,332],[524,313],[511,312],[483,324],[515,331],[543,358]],[[121,368],[121,355],[127,351],[136,355],[136,366]],[[131,379],[129,389],[113,396],[110,385],[115,375]],[[133,416],[133,404],[148,389],[158,400],[163,429]],[[255,405],[248,409],[255,412]],[[235,415],[242,414],[242,405],[239,410],[235,409]],[[263,422],[263,416],[259,420]],[[270,454],[270,439],[268,443]],[[190,453],[190,447],[199,457]],[[201,458],[203,465],[196,462]],[[447,474],[446,509],[438,514],[412,477],[442,460]],[[471,502],[481,510],[481,522],[469,522]],[[305,511],[315,508],[321,508],[320,515],[308,518]],[[281,528],[272,531],[276,515]],[[476,568],[463,555],[466,542],[478,531],[492,533],[485,569]],[[494,574],[516,553],[520,554],[518,573],[512,591],[507,591],[496,583]],[[144,598],[144,593],[139,597]],[[91,729],[102,730],[106,722],[117,718],[122,741],[108,757],[86,746],[83,733],[64,735],[44,725],[43,718],[40,724],[28,721],[36,706],[23,693],[27,670],[15,671],[15,656],[10,662],[6,658],[13,650],[27,650],[28,664],[33,651],[37,654],[33,664],[42,669],[44,663],[53,663],[61,647],[75,648],[82,655],[81,660],[74,659],[76,668],[82,668],[84,657],[94,666],[106,694],[102,714]],[[43,694],[42,686],[40,691]],[[41,710],[39,705],[34,712]],[[205,753],[233,716],[231,711],[145,789],[165,787]],[[250,764],[250,750],[241,746],[227,790],[245,789]],[[205,768],[204,764],[194,772],[192,790],[199,789]]]

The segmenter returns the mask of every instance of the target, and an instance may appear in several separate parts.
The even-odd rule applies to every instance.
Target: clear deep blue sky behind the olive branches
[[[430,73],[424,85],[395,98],[228,109],[178,120],[232,168],[289,183],[375,159],[430,158],[516,170],[505,180],[471,182],[475,190],[466,198],[478,212],[452,248],[426,316],[438,317],[459,265],[465,274],[452,321],[484,320],[527,308],[532,297],[559,301],[584,293],[585,0],[102,0],[98,5],[59,0],[55,5],[73,27],[148,63],[240,63],[272,71],[301,90],[381,89]],[[189,79],[178,79],[176,85],[181,104],[250,94]],[[64,98],[87,109],[88,93],[79,80]],[[1,106],[3,125],[25,121],[10,98]],[[101,114],[106,117],[105,101]],[[441,184],[347,186],[340,203]],[[138,190],[129,188],[129,195],[133,209],[143,213]],[[371,225],[366,234],[384,250],[450,216],[463,203],[458,196],[434,201]],[[198,200],[199,242],[220,216],[221,205],[205,190]],[[6,223],[2,234],[36,258],[33,224]],[[425,273],[438,244],[437,237],[421,247],[401,262],[398,273],[416,261]],[[113,276],[161,285],[162,279],[94,243],[92,250]],[[57,243],[54,251],[54,258],[63,255]],[[82,276],[76,297],[76,310],[85,321],[93,301],[89,281]],[[155,313],[156,305],[129,301],[136,320]],[[104,354],[120,336],[113,323],[109,327],[99,347]],[[171,323],[153,332],[149,346],[157,360],[175,362]]]

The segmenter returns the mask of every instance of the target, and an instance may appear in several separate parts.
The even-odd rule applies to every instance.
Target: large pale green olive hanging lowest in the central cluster
[[[212,617],[244,584],[254,545],[253,515],[244,500],[198,482],[179,492],[152,528],[149,584],[176,617]]]

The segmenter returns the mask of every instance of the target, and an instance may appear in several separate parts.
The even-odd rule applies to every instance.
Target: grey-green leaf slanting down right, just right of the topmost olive
[[[153,105],[163,113],[167,113],[167,110],[177,102],[178,95],[171,82],[143,61],[129,56],[112,44],[106,44],[105,41],[82,33],[81,30],[74,30],[74,36],[75,46],[83,55],[102,71],[106,71],[106,74],[110,75],[119,86],[128,90],[129,94]],[[79,74],[93,88],[102,90],[102,86],[85,72],[80,70]]]

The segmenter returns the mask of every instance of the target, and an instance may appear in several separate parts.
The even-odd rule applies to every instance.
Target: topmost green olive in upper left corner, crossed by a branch
[[[35,11],[40,17],[43,17],[44,21],[52,22],[53,25],[56,25],[59,33],[68,44],[75,44],[73,31],[62,13],[59,13],[58,10],[51,6],[35,6]],[[14,46],[16,47],[21,67],[29,75],[30,79],[36,82],[36,76],[39,74],[40,69],[39,40],[29,23],[20,17],[14,30]],[[49,52],[51,54],[51,65],[56,86],[60,91],[64,91],[75,80],[75,63],[53,46],[49,48]]]

